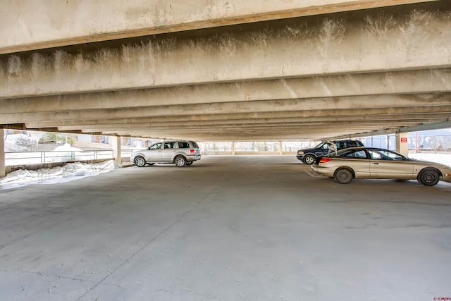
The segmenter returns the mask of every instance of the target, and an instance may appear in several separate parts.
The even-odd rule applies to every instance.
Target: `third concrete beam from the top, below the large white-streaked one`
[[[451,91],[451,68],[0,99],[1,113]]]

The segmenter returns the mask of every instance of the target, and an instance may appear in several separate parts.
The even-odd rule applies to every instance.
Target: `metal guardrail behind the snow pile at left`
[[[130,156],[130,154],[131,152],[128,150],[121,152],[121,156]],[[5,166],[96,159],[113,159],[113,150],[96,149],[86,151],[5,152]]]

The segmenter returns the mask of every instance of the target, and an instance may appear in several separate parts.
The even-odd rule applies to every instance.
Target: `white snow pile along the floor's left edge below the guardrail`
[[[54,168],[42,168],[37,171],[18,170],[8,173],[5,178],[0,178],[0,189],[17,188],[30,184],[54,184],[69,182],[80,178],[97,176],[116,168],[121,168],[114,160],[97,164],[81,162],[68,163],[65,166]]]

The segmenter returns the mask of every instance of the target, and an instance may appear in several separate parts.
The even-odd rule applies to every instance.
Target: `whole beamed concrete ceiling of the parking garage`
[[[197,141],[451,127],[448,0],[266,1],[235,13],[226,2],[178,22],[92,21],[98,31],[84,35],[56,30],[50,8],[49,37],[18,37],[39,21],[25,12],[21,29],[0,23],[0,126]]]

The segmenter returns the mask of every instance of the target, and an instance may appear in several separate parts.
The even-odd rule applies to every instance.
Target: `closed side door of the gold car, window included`
[[[404,156],[385,149],[369,149],[371,178],[411,179],[414,166]]]

